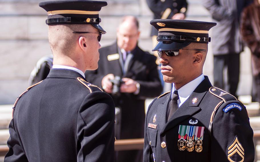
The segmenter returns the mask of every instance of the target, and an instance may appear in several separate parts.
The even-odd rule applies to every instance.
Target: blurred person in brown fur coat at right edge
[[[245,7],[241,14],[241,35],[251,50],[252,102],[260,102],[260,0]]]

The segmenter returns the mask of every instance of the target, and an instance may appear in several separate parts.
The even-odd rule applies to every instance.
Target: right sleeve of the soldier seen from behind
[[[77,122],[78,162],[113,162],[115,106],[105,92],[95,91],[81,104]]]

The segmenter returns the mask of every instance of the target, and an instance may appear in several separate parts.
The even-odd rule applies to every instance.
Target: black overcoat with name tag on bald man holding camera
[[[143,137],[145,99],[158,96],[162,90],[155,63],[156,57],[144,52],[137,46],[131,51],[133,58],[129,63],[127,72],[123,74],[119,59],[109,61],[107,58],[108,55],[119,53],[116,43],[101,48],[99,53],[98,69],[86,71],[87,80],[101,87],[102,78],[111,73],[122,78],[131,78],[140,84],[138,95],[122,93],[119,98],[111,95],[115,106],[121,108],[121,120],[119,116],[116,116],[115,127],[118,130],[115,132],[116,137],[118,139]]]

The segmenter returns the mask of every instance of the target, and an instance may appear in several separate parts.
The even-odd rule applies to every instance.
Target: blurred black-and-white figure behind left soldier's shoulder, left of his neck
[[[29,85],[32,86],[45,78],[47,78],[51,68],[53,66],[53,56],[43,56],[40,58],[33,71],[30,74]]]

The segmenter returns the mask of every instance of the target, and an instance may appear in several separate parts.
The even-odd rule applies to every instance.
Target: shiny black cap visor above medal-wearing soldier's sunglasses
[[[159,41],[152,51],[167,51],[167,50],[179,50],[186,47],[191,42],[173,42],[173,41]]]

